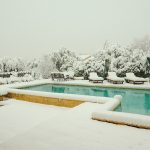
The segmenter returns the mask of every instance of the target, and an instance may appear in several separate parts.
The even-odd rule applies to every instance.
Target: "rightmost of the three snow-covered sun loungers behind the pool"
[[[126,82],[133,84],[143,84],[147,80],[144,78],[136,77],[134,73],[126,73],[125,77]]]

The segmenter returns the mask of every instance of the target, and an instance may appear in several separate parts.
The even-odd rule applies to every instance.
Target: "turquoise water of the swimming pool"
[[[54,93],[69,93],[89,96],[113,97],[122,95],[123,100],[116,111],[130,112],[150,115],[150,91],[130,90],[116,88],[84,87],[84,86],[64,86],[64,85],[38,85],[23,88],[25,90],[45,91]]]

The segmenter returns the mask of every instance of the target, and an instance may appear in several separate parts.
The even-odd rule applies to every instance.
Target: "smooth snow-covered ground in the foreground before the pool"
[[[0,150],[150,149],[150,130],[91,120],[103,105],[68,109],[9,100],[0,107]]]

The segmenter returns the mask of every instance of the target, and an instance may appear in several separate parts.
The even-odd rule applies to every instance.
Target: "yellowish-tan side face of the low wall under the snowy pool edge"
[[[68,100],[68,99],[62,99],[62,98],[34,96],[34,95],[29,95],[29,94],[8,93],[6,96],[8,98],[15,98],[17,100],[24,100],[28,102],[62,106],[62,107],[70,107],[70,108],[78,106],[81,103],[83,103],[83,101],[79,101],[79,100]]]

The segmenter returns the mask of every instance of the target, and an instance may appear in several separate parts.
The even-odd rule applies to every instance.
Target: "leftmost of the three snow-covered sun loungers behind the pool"
[[[103,83],[104,79],[99,77],[96,72],[91,72],[89,75],[89,81],[93,83]]]

